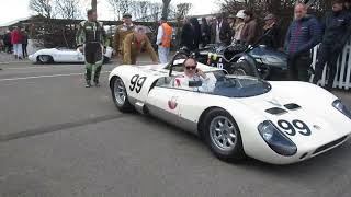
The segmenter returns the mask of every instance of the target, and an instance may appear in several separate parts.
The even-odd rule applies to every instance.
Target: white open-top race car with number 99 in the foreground
[[[177,59],[177,58],[176,58]],[[210,82],[174,85],[180,60],[118,66],[110,74],[122,112],[136,109],[192,131],[222,160],[245,155],[288,164],[321,154],[351,135],[351,113],[333,94],[310,83],[228,76],[197,65]]]

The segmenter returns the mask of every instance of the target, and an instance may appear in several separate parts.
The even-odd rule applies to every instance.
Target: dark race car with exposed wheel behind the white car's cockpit
[[[207,45],[197,53],[197,61],[225,69],[230,74],[253,76],[264,80],[286,78],[287,55],[260,45],[263,35],[254,45],[245,46],[233,40],[229,46]]]

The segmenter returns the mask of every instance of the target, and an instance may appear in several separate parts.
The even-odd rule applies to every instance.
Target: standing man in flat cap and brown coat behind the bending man
[[[114,49],[121,57],[124,57],[123,40],[125,37],[134,32],[134,24],[132,23],[132,15],[129,13],[123,14],[123,24],[118,25],[114,34]],[[123,59],[122,59],[123,60]]]

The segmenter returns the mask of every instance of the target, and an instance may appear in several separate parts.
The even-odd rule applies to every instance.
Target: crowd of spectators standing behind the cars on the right
[[[261,44],[267,47],[284,50],[287,54],[287,80],[309,81],[315,74],[313,83],[317,84],[321,78],[325,65],[328,69],[326,89],[332,88],[337,72],[337,60],[343,46],[351,35],[351,0],[332,0],[330,11],[321,20],[307,13],[307,5],[297,3],[294,9],[294,20],[288,26],[286,35],[282,35],[281,21],[268,13],[260,30],[256,14],[249,10],[240,10],[236,15],[227,19],[218,14],[215,19],[203,18],[199,25],[197,19],[185,20],[181,33],[181,46],[191,50],[200,45],[211,44],[244,45]],[[281,45],[281,40],[284,44]],[[312,66],[312,49],[320,44],[317,53],[315,70]]]

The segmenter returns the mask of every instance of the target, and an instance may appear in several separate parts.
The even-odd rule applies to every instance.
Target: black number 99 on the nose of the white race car
[[[295,119],[292,123],[290,123],[287,120],[280,119],[280,120],[278,120],[278,126],[280,128],[282,128],[285,134],[287,134],[290,136],[295,136],[296,130],[298,134],[301,134],[303,136],[310,136],[310,134],[312,134],[308,126],[304,121],[298,120],[298,119]]]

